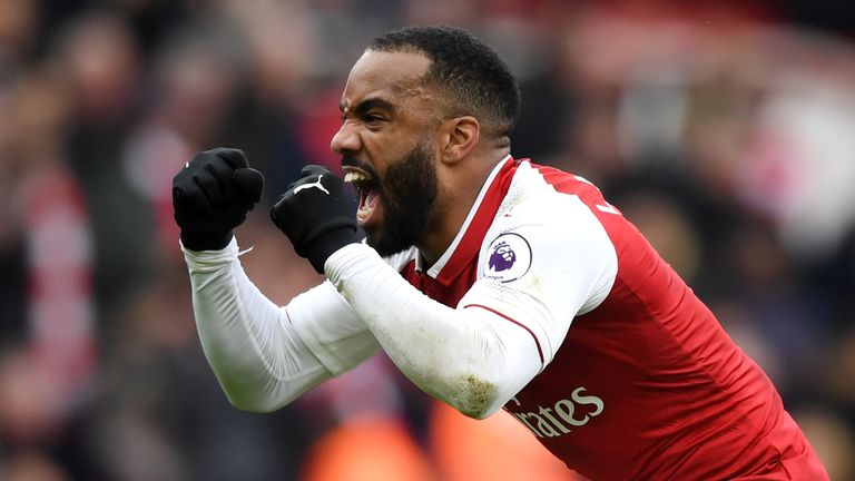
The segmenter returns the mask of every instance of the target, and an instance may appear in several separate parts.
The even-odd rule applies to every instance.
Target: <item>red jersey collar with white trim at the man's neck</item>
[[[517,161],[510,155],[497,164],[484,186],[481,187],[456,237],[439,261],[428,269],[429,276],[445,286],[451,285],[469,266],[472,258],[478,256],[487,230],[499,210],[499,205],[508,194],[515,170]],[[416,269],[421,271],[421,256],[417,256]]]

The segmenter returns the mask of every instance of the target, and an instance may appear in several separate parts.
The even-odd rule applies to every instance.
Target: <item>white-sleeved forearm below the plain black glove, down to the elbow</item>
[[[330,377],[284,310],[246,277],[234,239],[220,251],[184,254],[205,356],[236,408],[272,411]]]

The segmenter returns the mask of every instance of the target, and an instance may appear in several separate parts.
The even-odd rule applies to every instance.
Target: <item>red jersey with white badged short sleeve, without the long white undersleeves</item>
[[[589,238],[569,252],[552,234]],[[525,328],[542,372],[504,409],[582,475],[825,479],[769,379],[588,180],[509,158],[435,265],[393,261],[431,298]],[[473,286],[497,281],[507,302],[479,304]]]

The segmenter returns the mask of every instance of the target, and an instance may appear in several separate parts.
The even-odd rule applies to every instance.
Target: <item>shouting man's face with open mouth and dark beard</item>
[[[332,149],[360,190],[360,226],[384,256],[417,244],[439,192],[440,119],[421,81],[429,65],[420,53],[367,51],[342,95],[344,122]]]

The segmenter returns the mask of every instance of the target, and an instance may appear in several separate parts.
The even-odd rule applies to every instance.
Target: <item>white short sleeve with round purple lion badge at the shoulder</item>
[[[460,305],[492,310],[522,325],[546,367],[572,320],[596,308],[611,292],[618,272],[615,246],[590,208],[572,195],[557,195],[549,206],[518,206],[488,238],[479,279]],[[503,247],[513,253],[514,262],[500,269]]]

